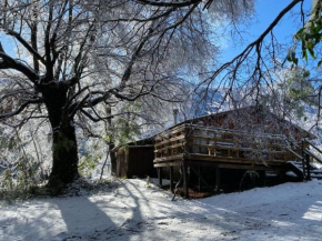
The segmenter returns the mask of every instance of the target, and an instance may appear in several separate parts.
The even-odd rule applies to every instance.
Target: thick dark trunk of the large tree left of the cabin
[[[42,90],[52,129],[52,169],[49,185],[67,184],[79,178],[78,143],[73,120],[66,108],[67,91],[64,87]]]

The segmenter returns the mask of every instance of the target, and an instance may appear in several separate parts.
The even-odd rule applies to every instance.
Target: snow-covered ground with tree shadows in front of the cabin
[[[200,200],[144,180],[100,195],[0,208],[0,240],[321,240],[322,181],[285,183]]]

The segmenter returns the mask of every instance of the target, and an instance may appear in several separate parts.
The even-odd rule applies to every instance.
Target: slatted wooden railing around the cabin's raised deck
[[[285,137],[280,134],[183,123],[157,135],[154,140],[154,167],[183,160],[252,167],[282,165],[293,158],[286,149]]]

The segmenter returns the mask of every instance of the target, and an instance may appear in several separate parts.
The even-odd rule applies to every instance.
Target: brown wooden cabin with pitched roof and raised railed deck
[[[237,188],[250,171],[263,183],[266,171],[282,173],[290,161],[303,161],[311,144],[303,140],[313,138],[263,108],[249,107],[184,121],[157,134],[153,163],[160,185],[169,170],[171,190],[180,172],[188,198],[193,187]]]

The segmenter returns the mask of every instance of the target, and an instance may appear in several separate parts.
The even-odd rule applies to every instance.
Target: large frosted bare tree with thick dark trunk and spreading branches
[[[50,183],[78,175],[76,128],[109,121],[120,102],[179,101],[183,77],[215,64],[219,38],[203,9],[212,1],[2,0],[0,120],[51,127]],[[249,1],[217,1],[235,20]],[[225,7],[225,8],[221,8]],[[222,18],[222,14],[221,14]]]

